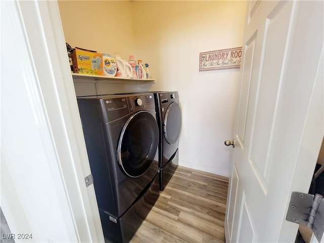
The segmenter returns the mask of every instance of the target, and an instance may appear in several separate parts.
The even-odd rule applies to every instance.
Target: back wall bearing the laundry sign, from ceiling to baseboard
[[[135,45],[158,90],[178,90],[180,165],[228,175],[238,69],[199,72],[199,53],[239,47],[246,2],[135,1]],[[140,23],[140,24],[139,24]],[[145,45],[140,45],[145,43]]]

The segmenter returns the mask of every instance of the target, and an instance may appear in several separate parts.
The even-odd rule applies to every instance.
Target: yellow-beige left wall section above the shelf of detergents
[[[100,53],[134,51],[132,5],[129,1],[58,1],[65,41]]]

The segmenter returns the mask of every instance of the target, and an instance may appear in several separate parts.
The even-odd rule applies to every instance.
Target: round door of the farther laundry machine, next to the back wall
[[[177,142],[181,129],[181,111],[179,104],[172,102],[164,118],[164,136],[169,144]]]

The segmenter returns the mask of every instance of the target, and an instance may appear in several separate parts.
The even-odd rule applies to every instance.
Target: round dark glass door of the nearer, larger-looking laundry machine
[[[118,163],[130,177],[143,175],[153,163],[158,145],[158,127],[153,115],[139,111],[121,130],[117,147]]]

